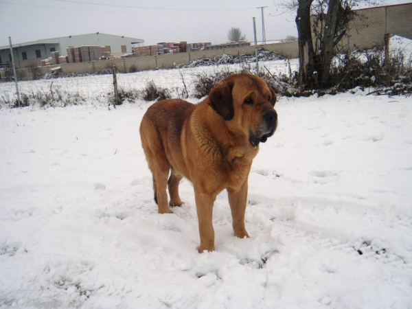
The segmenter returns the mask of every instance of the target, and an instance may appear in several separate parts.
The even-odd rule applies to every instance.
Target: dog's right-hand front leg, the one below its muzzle
[[[229,197],[229,205],[233,219],[233,231],[238,238],[249,238],[246,227],[244,226],[244,213],[247,204],[247,179],[238,190],[227,188],[227,195]]]

